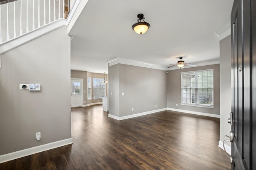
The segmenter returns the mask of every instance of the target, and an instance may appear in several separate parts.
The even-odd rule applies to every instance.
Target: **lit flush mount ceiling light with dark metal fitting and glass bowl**
[[[138,34],[144,34],[150,28],[150,24],[144,21],[144,15],[138,14],[138,22],[132,25],[132,29]],[[142,21],[143,22],[142,22]]]

